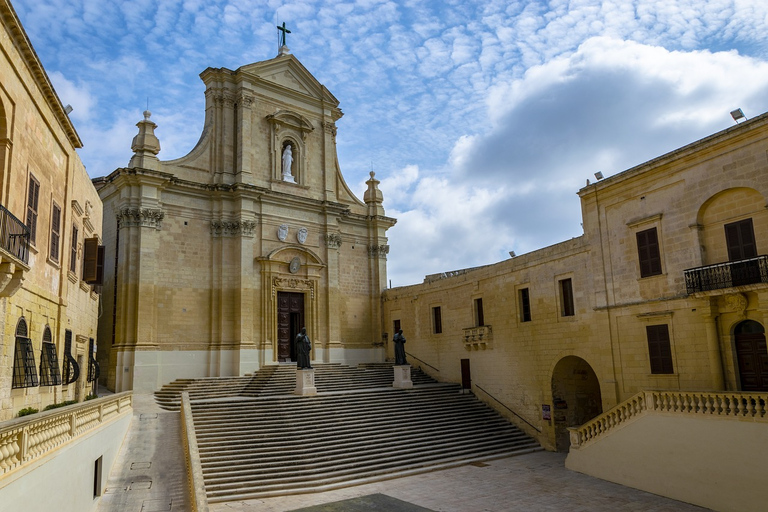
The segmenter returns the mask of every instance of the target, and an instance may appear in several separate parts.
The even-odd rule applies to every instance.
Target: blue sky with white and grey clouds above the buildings
[[[393,286],[581,234],[576,191],[768,110],[757,0],[14,0],[92,177],[203,126],[207,67],[291,52],[341,102],[339,162],[382,180]]]

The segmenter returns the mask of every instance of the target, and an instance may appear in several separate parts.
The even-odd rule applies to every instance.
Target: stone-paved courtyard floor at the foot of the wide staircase
[[[536,452],[484,464],[317,494],[213,503],[211,512],[686,512],[703,508],[576,473],[565,455]],[[415,505],[367,508],[350,498],[383,494]],[[375,500],[374,500],[375,501]],[[426,509],[426,510],[425,510]]]

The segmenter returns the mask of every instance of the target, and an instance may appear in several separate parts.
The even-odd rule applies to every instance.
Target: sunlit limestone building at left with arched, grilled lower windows
[[[23,408],[84,400],[97,377],[102,209],[75,152],[80,138],[7,0],[0,23],[0,420],[7,420]]]

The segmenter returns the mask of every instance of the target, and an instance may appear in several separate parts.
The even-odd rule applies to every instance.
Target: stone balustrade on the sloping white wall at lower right
[[[768,423],[768,393],[641,391],[580,427],[569,428],[571,448],[651,413],[687,414]]]

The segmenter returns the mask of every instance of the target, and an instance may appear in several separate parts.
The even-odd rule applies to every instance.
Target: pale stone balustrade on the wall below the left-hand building
[[[132,409],[126,391],[0,424],[0,478]]]

